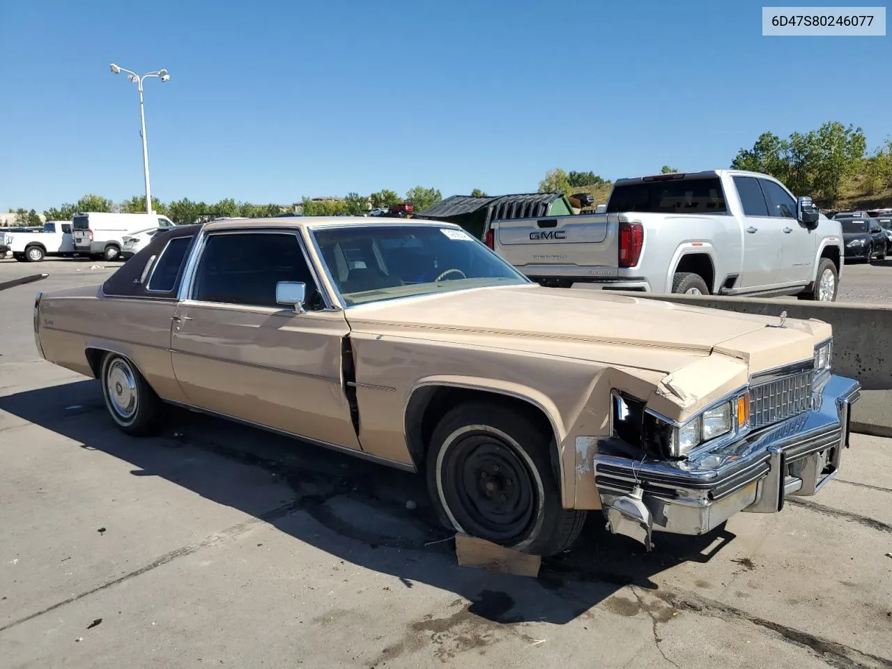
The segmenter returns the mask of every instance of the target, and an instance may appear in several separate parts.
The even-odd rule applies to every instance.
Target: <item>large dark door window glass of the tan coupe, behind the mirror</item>
[[[279,307],[276,303],[279,281],[302,281],[307,285],[306,308],[323,306],[294,233],[211,235],[195,271],[192,298]]]

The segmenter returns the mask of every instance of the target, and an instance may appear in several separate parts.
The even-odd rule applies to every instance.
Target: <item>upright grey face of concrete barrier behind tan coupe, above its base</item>
[[[764,316],[780,316],[786,311],[788,318],[817,318],[833,326],[834,374],[858,379],[864,390],[892,390],[892,337],[887,339],[892,335],[892,306],[721,295],[622,294]]]

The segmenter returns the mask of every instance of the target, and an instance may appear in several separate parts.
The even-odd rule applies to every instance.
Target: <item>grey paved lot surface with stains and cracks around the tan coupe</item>
[[[892,441],[854,435],[780,514],[650,554],[591,514],[538,578],[489,574],[419,477],[187,412],[121,434],[31,324],[38,289],[105,265],[0,261],[49,275],[0,291],[0,665],[892,666]],[[887,273],[847,268],[843,296]]]

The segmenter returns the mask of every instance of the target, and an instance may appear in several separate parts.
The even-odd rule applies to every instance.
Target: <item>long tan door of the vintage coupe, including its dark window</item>
[[[293,229],[207,235],[174,317],[174,374],[197,408],[359,449],[341,374],[350,328],[306,259]],[[306,312],[277,305],[278,281],[305,283]]]

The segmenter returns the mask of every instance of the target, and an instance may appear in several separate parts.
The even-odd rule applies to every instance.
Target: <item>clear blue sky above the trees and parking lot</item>
[[[813,0],[814,1],[814,0]],[[0,210],[727,167],[766,129],[892,134],[892,37],[762,37],[764,2],[0,3]]]

